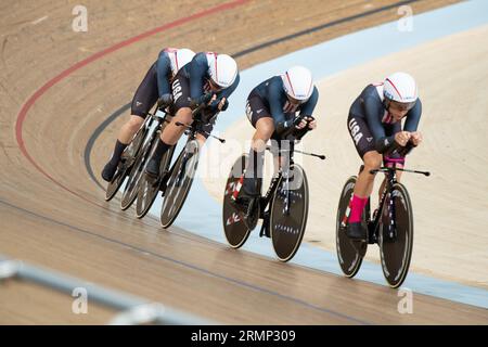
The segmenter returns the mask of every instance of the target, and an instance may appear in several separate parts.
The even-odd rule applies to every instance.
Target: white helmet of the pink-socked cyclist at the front
[[[386,77],[383,94],[387,102],[395,102],[403,110],[412,108],[419,98],[415,80],[406,73],[395,73]]]

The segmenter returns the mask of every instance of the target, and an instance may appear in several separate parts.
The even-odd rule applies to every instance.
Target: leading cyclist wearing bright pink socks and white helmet
[[[416,82],[406,73],[395,73],[383,83],[369,85],[350,106],[347,127],[356,150],[364,162],[349,206],[346,233],[350,239],[367,239],[361,215],[373,191],[374,175],[370,170],[378,169],[382,160],[385,166],[391,167],[396,163],[397,167],[403,167],[404,157],[396,152],[393,155],[385,153],[390,152],[395,143],[406,146],[411,142],[418,146],[422,142],[422,134],[416,131],[421,115],[422,103]],[[400,179],[400,171],[397,172],[397,179]],[[385,181],[380,192],[383,184]]]

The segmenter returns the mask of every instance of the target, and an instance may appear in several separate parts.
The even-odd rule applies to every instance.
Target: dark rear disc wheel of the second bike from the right
[[[247,165],[247,155],[242,155],[232,166],[229,178],[226,182],[226,191],[223,193],[222,203],[222,222],[226,239],[233,248],[241,247],[251,234],[244,216],[231,201],[232,194],[240,189],[240,179]]]

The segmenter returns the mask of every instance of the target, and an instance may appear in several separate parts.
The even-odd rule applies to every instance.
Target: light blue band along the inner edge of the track
[[[216,134],[223,132],[234,121],[243,117],[247,94],[256,85],[269,76],[282,73],[297,62],[310,68],[316,79],[319,80],[386,54],[413,48],[487,23],[488,1],[466,1],[413,16],[413,31],[401,33],[397,28],[397,22],[391,22],[256,65],[242,72],[241,83],[231,97],[229,110],[220,115],[215,132]],[[210,145],[207,144],[206,149]],[[205,153],[203,154],[205,155]],[[160,203],[162,201],[158,197],[150,213],[158,216]],[[227,244],[223,236],[221,206],[209,196],[198,175],[176,223],[178,227],[194,231],[201,236]],[[260,239],[257,231],[252,233],[243,248],[275,258],[270,242]],[[342,275],[336,255],[310,244],[301,244],[292,262]],[[370,261],[363,261],[357,279],[385,285],[381,267]],[[415,273],[409,274],[403,287],[421,294],[488,308],[488,291],[483,288]]]

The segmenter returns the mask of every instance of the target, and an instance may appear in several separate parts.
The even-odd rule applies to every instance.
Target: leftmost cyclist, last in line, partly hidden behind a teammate
[[[132,99],[129,120],[120,128],[110,162],[102,171],[102,178],[111,181],[124,150],[144,123],[147,112],[158,98],[171,93],[170,83],[178,70],[189,63],[195,53],[189,49],[166,48],[151,65]]]

